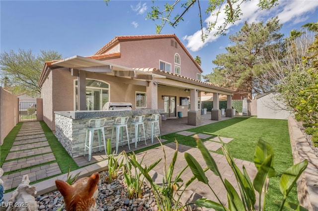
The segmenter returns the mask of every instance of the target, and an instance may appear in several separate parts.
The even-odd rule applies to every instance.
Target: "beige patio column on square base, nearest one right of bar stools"
[[[196,89],[190,90],[190,110],[188,111],[188,124],[201,124],[201,113],[198,108],[198,91]]]

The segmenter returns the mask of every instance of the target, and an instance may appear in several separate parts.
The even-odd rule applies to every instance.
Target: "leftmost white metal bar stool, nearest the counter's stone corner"
[[[91,151],[93,148],[99,147],[99,151],[101,152],[101,146],[104,145],[105,155],[107,156],[106,151],[106,141],[105,141],[105,125],[106,119],[90,119],[88,122],[88,127],[86,129],[86,139],[85,139],[85,147],[84,147],[84,157],[86,155],[86,148],[88,148],[88,161],[90,162],[91,158]],[[98,136],[98,146],[93,147],[93,138],[94,138],[94,132],[97,130],[97,136]],[[101,144],[101,134],[103,134],[103,141],[104,144]],[[87,145],[88,142],[88,145]]]

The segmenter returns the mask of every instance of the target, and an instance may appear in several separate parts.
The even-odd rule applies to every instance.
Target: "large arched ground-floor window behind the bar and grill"
[[[78,80],[75,80],[75,110],[79,110]],[[102,110],[109,102],[109,84],[104,81],[86,79],[86,110]]]

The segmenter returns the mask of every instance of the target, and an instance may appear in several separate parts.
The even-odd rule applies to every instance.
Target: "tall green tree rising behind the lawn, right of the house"
[[[217,55],[213,72],[205,80],[234,90],[244,91],[250,99],[253,93],[262,93],[269,87],[258,80],[269,60],[269,49],[281,49],[283,34],[277,17],[267,23],[245,22],[239,32],[230,35],[235,45],[227,47],[227,53]]]

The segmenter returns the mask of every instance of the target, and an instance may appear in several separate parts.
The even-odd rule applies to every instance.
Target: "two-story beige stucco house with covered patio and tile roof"
[[[201,81],[202,69],[174,34],[116,36],[94,55],[75,55],[45,63],[43,119],[55,130],[55,111],[102,110],[107,102],[127,102],[132,109],[178,112],[188,124],[200,124],[201,93],[225,95],[228,115],[234,91]],[[212,119],[220,118],[219,109]]]

